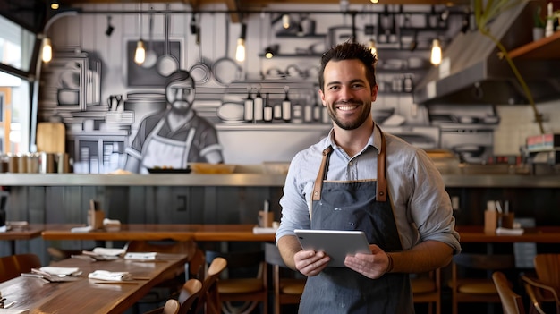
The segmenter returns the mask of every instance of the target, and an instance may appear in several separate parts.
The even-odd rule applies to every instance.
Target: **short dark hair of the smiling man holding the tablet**
[[[371,87],[374,87],[377,84],[375,66],[378,62],[378,56],[372,55],[369,47],[366,47],[363,44],[355,42],[344,42],[343,44],[331,47],[321,57],[321,67],[318,73],[319,89],[325,91],[325,78],[323,77],[323,74],[325,72],[325,66],[329,61],[353,59],[360,60],[361,63],[366,66],[366,79],[368,79],[369,85]]]

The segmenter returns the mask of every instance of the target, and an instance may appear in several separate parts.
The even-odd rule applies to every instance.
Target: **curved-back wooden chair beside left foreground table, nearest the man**
[[[199,313],[204,310],[206,314],[221,314],[222,303],[219,299],[217,292],[217,281],[220,275],[227,267],[227,260],[223,258],[216,258],[210,262],[204,281],[202,282],[202,289],[200,289],[199,300],[194,307],[194,313]]]

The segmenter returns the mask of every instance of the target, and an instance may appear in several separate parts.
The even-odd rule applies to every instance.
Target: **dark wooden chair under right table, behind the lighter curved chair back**
[[[458,314],[459,303],[500,303],[491,273],[496,270],[513,269],[513,254],[455,255],[451,267],[452,312]],[[481,274],[484,273],[484,274]]]

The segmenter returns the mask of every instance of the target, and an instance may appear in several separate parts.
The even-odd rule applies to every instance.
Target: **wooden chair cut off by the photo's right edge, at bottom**
[[[554,302],[560,313],[560,254],[537,254],[534,259],[537,277],[522,276],[530,284],[537,301]],[[531,307],[532,309],[532,307]]]

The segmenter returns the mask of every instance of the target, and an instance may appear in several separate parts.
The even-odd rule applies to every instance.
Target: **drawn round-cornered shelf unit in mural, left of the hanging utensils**
[[[64,111],[85,111],[99,105],[101,62],[82,52],[58,54],[43,65],[40,106]]]

